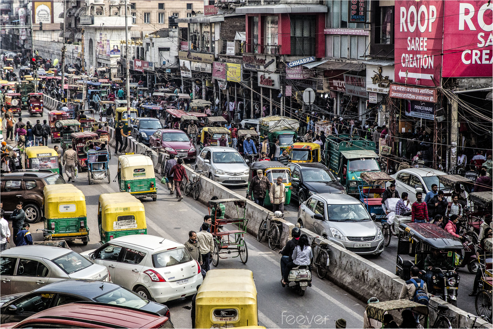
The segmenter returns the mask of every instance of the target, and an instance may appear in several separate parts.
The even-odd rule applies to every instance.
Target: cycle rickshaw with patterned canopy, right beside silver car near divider
[[[360,175],[361,185],[358,185],[359,200],[366,206],[366,210],[371,214],[372,219],[382,227],[385,246],[390,244],[392,235],[397,236],[392,225],[387,221],[387,215],[382,209],[382,198],[387,182],[395,183],[395,179],[382,172],[363,172]],[[371,196],[371,197],[370,197]]]

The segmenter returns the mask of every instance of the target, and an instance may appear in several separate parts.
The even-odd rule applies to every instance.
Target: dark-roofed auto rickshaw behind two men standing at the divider
[[[288,205],[291,202],[291,170],[289,167],[284,166],[278,161],[256,161],[250,165],[250,172],[248,173],[248,187],[250,187],[251,180],[257,175],[257,170],[261,169],[264,172],[264,176],[267,177],[271,184],[276,183],[278,177],[282,177],[282,183],[285,188],[284,204]],[[250,195],[253,200],[253,193]],[[265,193],[264,206],[271,205],[271,199],[269,198],[269,191]]]

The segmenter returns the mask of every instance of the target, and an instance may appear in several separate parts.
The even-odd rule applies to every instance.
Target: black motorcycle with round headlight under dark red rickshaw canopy
[[[448,303],[451,303],[454,306],[457,306],[460,276],[458,275],[456,269],[444,271],[441,268],[433,267],[430,271],[432,271],[434,275],[432,277],[433,285],[431,287],[427,287],[428,292]],[[420,271],[420,277],[423,280],[426,280],[424,273],[426,273],[424,270]]]

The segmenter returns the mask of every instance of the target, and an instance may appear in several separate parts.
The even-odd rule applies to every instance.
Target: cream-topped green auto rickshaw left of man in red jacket
[[[150,157],[125,154],[118,157],[118,185],[120,192],[129,192],[137,198],[150,196],[157,200],[156,177]]]

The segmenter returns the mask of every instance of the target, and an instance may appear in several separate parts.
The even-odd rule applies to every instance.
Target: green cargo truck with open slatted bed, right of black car
[[[359,194],[362,172],[380,171],[375,143],[350,135],[327,136],[323,162],[336,175],[348,194]]]

